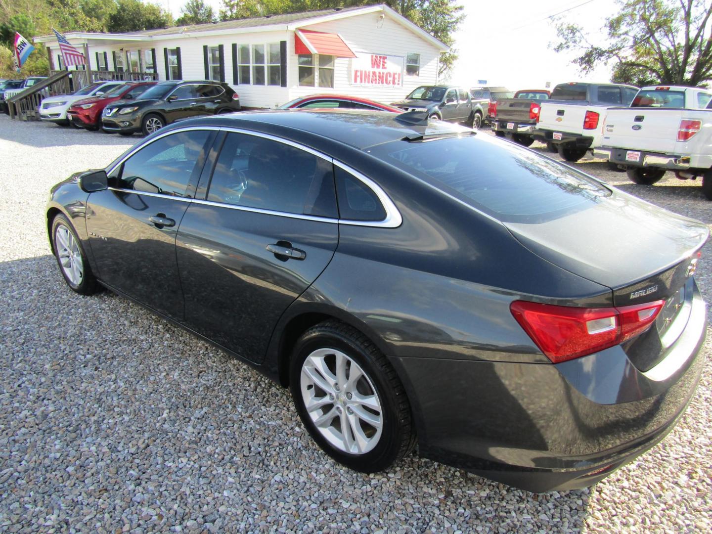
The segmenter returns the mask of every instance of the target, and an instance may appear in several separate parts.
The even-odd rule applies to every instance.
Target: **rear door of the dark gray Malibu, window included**
[[[274,138],[221,135],[177,235],[186,324],[261,362],[278,319],[336,249],[333,163]]]

